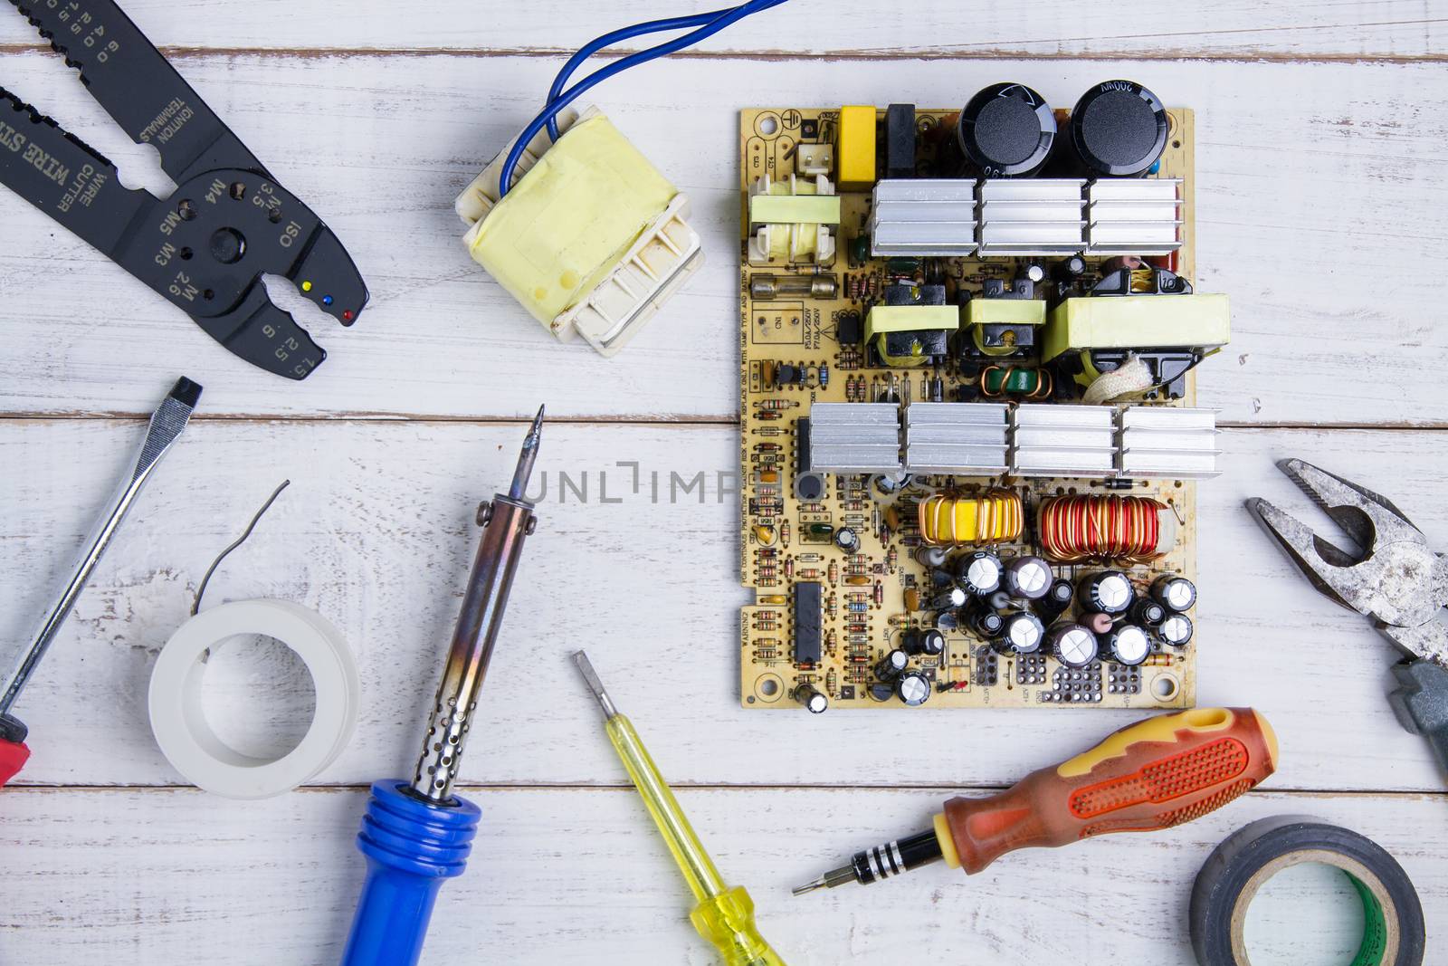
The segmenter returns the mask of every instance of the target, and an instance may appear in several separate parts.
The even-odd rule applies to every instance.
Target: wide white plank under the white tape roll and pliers
[[[25,639],[138,429],[0,420],[0,459],[12,468],[0,482],[7,516],[0,572],[26,575],[7,581],[12,604],[0,608],[0,640]],[[35,749],[23,779],[181,781],[146,724],[151,665],[185,618],[211,558],[282,475],[292,487],[223,565],[207,602],[278,597],[327,616],[356,650],[366,692],[358,736],[320,781],[359,784],[410,769],[476,547],[473,508],[508,478],[520,434],[517,424],[194,424],[23,698],[19,710]],[[1200,488],[1199,514],[1209,523],[1199,549],[1199,702],[1250,704],[1270,717],[1283,743],[1274,788],[1441,789],[1428,746],[1397,726],[1384,701],[1392,646],[1312,591],[1241,501],[1254,494],[1280,500],[1331,533],[1273,466],[1300,455],[1393,491],[1445,546],[1448,510],[1431,495],[1445,434],[1232,430],[1221,439],[1228,472]],[[928,705],[824,715],[741,711],[736,613],[747,597],[736,569],[737,503],[727,491],[734,448],[731,427],[549,426],[539,462],[547,485],[542,523],[479,710],[487,737],[473,740],[465,778],[613,781],[607,749],[578,747],[595,724],[568,662],[578,647],[594,655],[620,701],[672,724],[659,728],[654,750],[678,762],[672,776],[679,782],[1005,785],[1140,717]],[[639,492],[621,461],[639,463]],[[571,485],[560,485],[560,474]],[[306,689],[271,695],[282,711],[277,721],[252,711],[255,694],[294,679],[295,668],[278,655],[252,663],[237,658],[219,671],[214,718],[236,723],[240,737],[278,743],[306,720],[298,707]],[[77,686],[85,694],[83,715]],[[912,721],[937,730],[940,742],[885,752],[901,728],[921,727]],[[708,753],[696,753],[702,736],[710,736]],[[831,747],[876,752],[863,763]]]

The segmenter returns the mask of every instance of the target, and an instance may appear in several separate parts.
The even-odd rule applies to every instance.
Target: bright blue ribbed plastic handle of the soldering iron
[[[456,797],[447,807],[424,802],[408,785],[400,778],[372,785],[358,833],[366,882],[342,966],[414,966],[437,889],[468,866],[482,812]]]

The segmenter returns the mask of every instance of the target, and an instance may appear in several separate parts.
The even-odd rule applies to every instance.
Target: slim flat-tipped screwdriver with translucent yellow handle
[[[689,818],[659,775],[639,733],[628,718],[618,714],[618,708],[604,691],[594,666],[588,663],[588,655],[582,650],[575,652],[573,660],[604,710],[608,740],[614,743],[618,759],[628,769],[628,778],[633,779],[643,804],[653,815],[653,824],[659,827],[659,834],[663,836],[673,860],[679,865],[679,872],[694,892],[694,899],[698,902],[689,912],[694,928],[718,947],[724,966],[785,966],[785,960],[779,959],[779,953],[769,947],[754,927],[754,901],[749,898],[744,886],[724,885],[720,870],[714,868],[710,853],[694,834]]]

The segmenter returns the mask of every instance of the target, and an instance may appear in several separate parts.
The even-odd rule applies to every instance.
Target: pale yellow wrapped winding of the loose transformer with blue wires
[[[552,329],[618,268],[678,194],[605,116],[594,114],[563,132],[463,240]]]

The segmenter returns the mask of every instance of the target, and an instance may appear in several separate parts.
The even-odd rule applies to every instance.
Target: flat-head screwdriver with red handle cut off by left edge
[[[116,539],[116,532],[120,530],[126,513],[136,503],[136,497],[140,495],[142,488],[151,479],[151,474],[161,463],[161,458],[171,452],[171,446],[181,436],[181,430],[185,429],[187,421],[191,419],[191,411],[200,398],[201,387],[181,377],[171,387],[167,398],[161,400],[161,406],[151,414],[151,423],[146,426],[146,436],[140,442],[140,450],[136,453],[130,468],[120,478],[116,494],[106,504],[106,508],[101,510],[85,543],[81,545],[80,555],[75,558],[75,566],[71,568],[71,575],[61,587],[59,595],[30,639],[30,646],[20,652],[14,668],[0,681],[0,785],[10,781],[25,765],[26,759],[30,757],[30,749],[25,746],[29,728],[10,714],[10,705],[20,697],[20,691],[30,679],[30,675],[35,673],[45,652],[55,642],[56,634],[61,631],[61,624],[65,623],[81,591],[85,589],[85,584],[90,582],[90,576],[96,571],[96,565],[100,563],[100,558],[106,553],[106,547]]]

